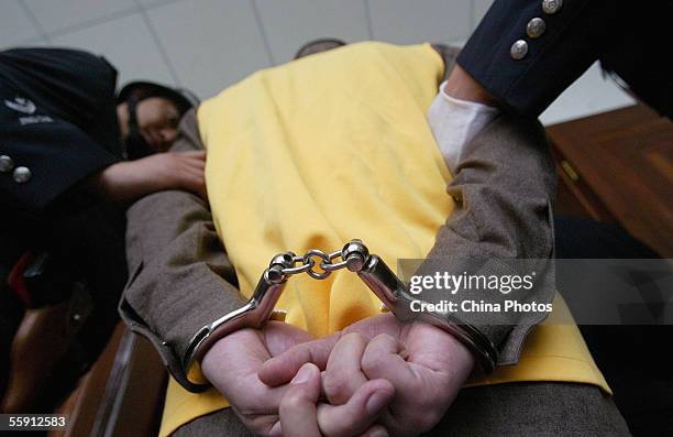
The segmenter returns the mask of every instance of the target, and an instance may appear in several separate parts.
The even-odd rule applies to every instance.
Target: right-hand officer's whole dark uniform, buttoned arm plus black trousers
[[[537,117],[600,61],[646,103],[673,118],[672,12],[672,1],[496,0],[457,63],[505,109]],[[555,232],[559,258],[657,258],[616,227],[556,218]],[[556,273],[562,293],[577,276]],[[664,413],[673,408],[673,373],[657,358],[671,328],[581,327],[635,435],[673,429]]]

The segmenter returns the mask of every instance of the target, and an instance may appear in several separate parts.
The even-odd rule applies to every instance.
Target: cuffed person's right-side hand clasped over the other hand
[[[347,336],[350,332],[362,336],[365,343]],[[342,338],[351,338],[349,348],[336,348]],[[297,345],[267,361],[260,379],[269,386],[284,384],[307,362],[326,369],[323,390],[336,405],[349,401],[365,380],[390,382],[396,395],[377,422],[391,436],[415,436],[431,429],[474,367],[470,351],[451,335],[423,323],[401,324],[389,314]]]

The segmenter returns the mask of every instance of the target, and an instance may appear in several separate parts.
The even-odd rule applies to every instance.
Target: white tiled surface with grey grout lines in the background
[[[120,83],[154,79],[210,97],[289,61],[320,36],[461,42],[492,0],[0,0],[0,48],[75,46],[103,54]],[[543,114],[552,123],[628,105],[594,66]]]

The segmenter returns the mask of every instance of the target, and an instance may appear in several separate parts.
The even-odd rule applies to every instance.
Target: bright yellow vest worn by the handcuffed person
[[[361,238],[393,269],[422,259],[454,209],[451,174],[426,121],[443,62],[428,44],[361,43],[265,69],[203,102],[206,183],[217,231],[250,296],[271,258],[333,251]],[[297,275],[276,306],[320,337],[380,313],[347,271],[326,281]],[[570,313],[528,337],[518,365],[470,384],[573,381],[609,387]],[[228,406],[217,391],[170,381],[161,435]]]

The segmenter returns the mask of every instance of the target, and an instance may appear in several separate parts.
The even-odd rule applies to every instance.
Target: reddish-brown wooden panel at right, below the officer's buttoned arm
[[[591,217],[605,220],[604,208],[636,238],[663,256],[673,256],[670,120],[647,107],[633,106],[555,124],[547,131],[558,159],[566,160],[577,175],[572,181],[563,172],[563,183]],[[592,196],[599,200],[592,200]]]

